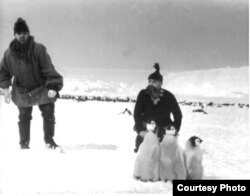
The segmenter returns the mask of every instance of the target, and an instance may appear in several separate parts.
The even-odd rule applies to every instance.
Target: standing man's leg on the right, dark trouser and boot
[[[39,105],[43,117],[43,130],[44,130],[44,141],[46,146],[49,148],[56,148],[58,145],[55,143],[53,137],[55,134],[55,104],[48,103]]]

